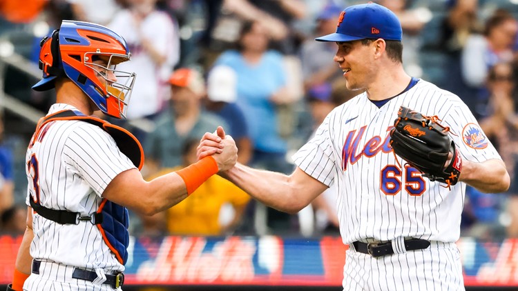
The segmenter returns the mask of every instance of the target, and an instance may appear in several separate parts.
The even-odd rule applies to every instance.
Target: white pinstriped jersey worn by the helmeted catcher
[[[49,114],[77,110],[55,104]],[[39,203],[46,208],[88,215],[99,208],[102,193],[117,174],[135,168],[119,151],[113,138],[98,126],[84,121],[51,121],[41,129],[37,141],[27,150],[30,165],[35,156],[37,170],[26,169],[28,196],[39,188]],[[33,180],[37,179],[37,187]],[[32,214],[34,239],[30,254],[35,259],[80,268],[123,271],[124,266],[104,243],[96,225],[79,221],[62,225]]]

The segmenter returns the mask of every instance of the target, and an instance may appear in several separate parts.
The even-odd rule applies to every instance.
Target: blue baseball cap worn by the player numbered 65
[[[316,41],[356,41],[358,39],[385,39],[401,41],[403,30],[394,12],[369,2],[349,6],[340,12],[336,32],[318,37]]]

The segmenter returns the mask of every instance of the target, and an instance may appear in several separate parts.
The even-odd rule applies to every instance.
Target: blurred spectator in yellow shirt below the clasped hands
[[[199,141],[187,141],[182,150],[183,162],[197,160]],[[179,167],[180,169],[182,167]],[[166,168],[158,172],[171,172]],[[155,177],[149,177],[151,180]],[[219,236],[230,234],[240,223],[250,197],[226,179],[213,175],[184,201],[153,217],[142,217],[144,234]],[[231,206],[231,208],[227,207]],[[230,215],[229,215],[230,214]],[[233,215],[231,215],[233,214]],[[229,216],[231,218],[229,219]]]

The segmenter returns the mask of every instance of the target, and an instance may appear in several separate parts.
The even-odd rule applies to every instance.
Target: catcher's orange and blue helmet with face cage
[[[43,70],[43,79],[32,89],[50,90],[57,77],[68,77],[102,112],[126,117],[135,73],[115,70],[117,63],[131,58],[128,45],[119,34],[94,23],[65,20],[59,30],[40,44],[39,68]],[[94,63],[98,59],[106,61],[106,67]],[[109,81],[99,69],[113,72],[117,81]],[[99,75],[104,82],[99,81]]]

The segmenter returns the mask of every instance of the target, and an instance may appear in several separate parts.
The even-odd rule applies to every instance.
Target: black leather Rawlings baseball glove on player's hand
[[[424,177],[449,187],[459,181],[462,159],[448,135],[450,128],[439,121],[437,116],[427,117],[401,106],[390,130],[390,145],[394,154],[421,171]],[[446,165],[450,153],[452,159]]]

